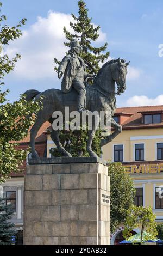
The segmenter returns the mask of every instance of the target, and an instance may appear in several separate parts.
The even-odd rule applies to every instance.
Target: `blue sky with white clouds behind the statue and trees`
[[[158,55],[158,46],[163,43],[163,1],[85,2],[92,22],[101,26],[96,45],[108,41],[112,58],[130,60],[127,90],[117,96],[118,106],[163,104],[163,57]],[[2,3],[1,13],[7,15],[9,26],[22,17],[28,20],[23,37],[5,48],[11,57],[16,52],[22,55],[15,71],[5,78],[5,88],[10,89],[8,99],[16,100],[27,89],[42,92],[60,88],[53,71],[53,58],[64,56],[62,27],[68,27],[71,13],[77,15],[77,0],[2,0]]]

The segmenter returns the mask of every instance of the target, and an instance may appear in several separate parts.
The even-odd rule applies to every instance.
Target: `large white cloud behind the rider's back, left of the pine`
[[[30,80],[56,77],[53,59],[61,60],[68,49],[64,45],[63,27],[72,32],[70,21],[70,14],[49,11],[47,17],[37,17],[37,21],[23,31],[20,39],[11,42],[5,53],[9,57],[14,57],[16,53],[22,56],[16,64],[14,75]],[[102,31],[99,33],[97,42],[102,42],[106,34]]]

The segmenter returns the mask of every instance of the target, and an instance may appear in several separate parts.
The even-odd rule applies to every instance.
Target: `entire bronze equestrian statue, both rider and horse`
[[[110,125],[114,129],[114,132],[101,139],[101,147],[111,142],[112,139],[122,131],[122,126],[117,124],[112,116],[116,109],[116,94],[120,95],[126,90],[126,75],[129,62],[125,63],[125,60],[123,59],[106,62],[98,71],[92,85],[85,88],[84,81],[87,76],[90,76],[90,74],[85,74],[85,63],[82,59],[78,58],[77,52],[74,53],[74,51],[70,51],[68,54],[69,56],[64,57],[62,60],[58,71],[59,78],[62,75],[64,76],[62,80],[62,90],[48,89],[42,93],[37,90],[28,90],[25,93],[27,101],[34,98],[35,101],[40,101],[40,97],[43,95],[43,108],[37,113],[35,124],[30,130],[30,148],[32,157],[39,157],[35,151],[35,137],[40,127],[46,121],[49,121],[51,124],[53,123],[54,118],[52,115],[55,111],[62,112],[64,116],[65,107],[70,107],[70,112],[83,112],[87,109],[91,112],[97,111],[100,113],[101,111],[104,111],[110,113]],[[95,137],[96,129],[97,127],[93,126],[92,130],[88,130],[87,139],[87,151],[89,155],[93,157],[97,157],[92,150],[92,141]],[[108,127],[108,131],[109,130],[110,127]],[[62,156],[70,157],[71,154],[65,150],[64,145],[59,141],[59,132],[59,130],[55,131],[52,129],[51,138],[57,146],[58,151],[62,153]]]

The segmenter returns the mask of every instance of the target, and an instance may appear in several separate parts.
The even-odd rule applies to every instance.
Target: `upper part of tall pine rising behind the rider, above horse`
[[[75,39],[79,39],[81,51],[79,56],[84,59],[87,64],[87,72],[90,74],[97,74],[99,70],[99,62],[104,62],[104,60],[108,59],[109,52],[102,53],[106,50],[108,43],[101,47],[95,47],[91,45],[91,41],[96,41],[99,38],[99,29],[100,26],[93,26],[92,19],[88,17],[88,9],[86,8],[86,3],[83,0],[78,1],[79,7],[79,16],[71,14],[74,20],[70,22],[70,26],[73,28],[74,34],[68,32],[66,27],[64,27],[64,32],[66,39],[69,42],[65,42],[64,44],[70,47],[70,42]],[[59,64],[56,58],[54,58],[55,64]],[[56,71],[57,67],[54,68]]]

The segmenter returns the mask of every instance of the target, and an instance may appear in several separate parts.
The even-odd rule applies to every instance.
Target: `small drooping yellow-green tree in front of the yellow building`
[[[148,240],[148,235],[143,236],[143,231],[146,230],[148,234],[150,234],[150,239],[153,240],[158,235],[158,232],[156,230],[156,222],[155,218],[156,215],[153,214],[152,208],[148,207],[145,208],[143,206],[135,206],[133,205],[131,209],[127,210],[127,218],[126,223],[124,224],[124,230],[123,230],[123,236],[124,238],[130,237],[131,230],[134,228],[137,228],[141,225],[141,244],[143,242],[143,239]],[[144,238],[143,238],[144,237]]]

